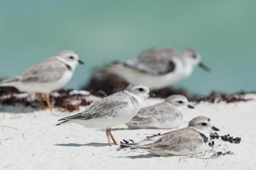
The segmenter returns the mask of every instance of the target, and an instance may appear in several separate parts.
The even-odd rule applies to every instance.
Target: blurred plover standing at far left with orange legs
[[[38,93],[43,109],[45,108],[42,94],[45,94],[47,105],[52,111],[49,93],[65,86],[78,64],[84,63],[79,60],[77,53],[70,50],[60,51],[55,56],[26,69],[18,76],[1,81],[0,86],[13,86],[20,92]]]

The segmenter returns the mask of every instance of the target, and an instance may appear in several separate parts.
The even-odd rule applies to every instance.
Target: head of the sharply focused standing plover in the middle
[[[150,92],[147,85],[141,82],[134,82],[130,84],[129,86],[127,86],[125,91],[134,94],[135,96],[141,99],[146,99],[148,97],[156,97],[154,93]]]

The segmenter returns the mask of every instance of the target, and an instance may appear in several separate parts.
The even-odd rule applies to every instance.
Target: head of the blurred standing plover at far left
[[[65,64],[71,66],[72,69],[75,69],[76,66],[79,64],[84,64],[81,60],[79,60],[77,53],[71,50],[60,51],[55,56],[59,57],[59,59],[63,61]]]

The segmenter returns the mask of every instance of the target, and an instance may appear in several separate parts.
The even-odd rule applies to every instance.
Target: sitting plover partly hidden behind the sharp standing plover
[[[154,106],[143,107],[126,125],[129,128],[177,128],[183,123],[184,111],[194,107],[182,95],[173,95]]]

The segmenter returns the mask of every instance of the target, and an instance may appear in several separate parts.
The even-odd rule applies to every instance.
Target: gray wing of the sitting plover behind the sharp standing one
[[[164,102],[154,106],[143,107],[128,123],[161,128],[164,122],[171,123],[177,119],[182,119],[180,111]]]

